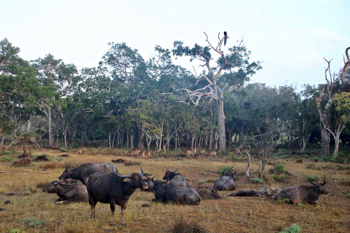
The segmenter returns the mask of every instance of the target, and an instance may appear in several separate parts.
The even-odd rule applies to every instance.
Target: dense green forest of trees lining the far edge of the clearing
[[[96,67],[80,71],[50,53],[24,60],[20,48],[2,39],[1,144],[41,140],[57,148],[186,147],[223,153],[228,148],[269,153],[276,146],[302,153],[307,146],[322,146],[323,156],[336,157],[339,144],[350,142],[349,48],[344,66],[325,60],[320,84],[299,91],[250,82],[264,64],[251,60],[243,41],[224,54],[226,37],[218,35],[213,46],[205,36],[204,45],[155,46],[148,60],[126,43],[110,43]],[[178,57],[201,62],[203,71],[176,65]]]

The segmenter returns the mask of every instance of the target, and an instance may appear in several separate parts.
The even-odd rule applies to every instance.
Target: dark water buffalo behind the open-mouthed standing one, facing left
[[[112,168],[114,168],[114,170],[118,172],[118,169],[110,163],[102,163],[102,164],[84,163],[79,167],[77,165],[75,168],[72,168],[72,169],[68,169],[68,165],[67,165],[66,169],[64,170],[62,175],[58,177],[58,179],[62,180],[62,179],[70,178],[73,180],[79,180],[83,184],[85,184],[85,179],[89,177],[89,175],[94,174],[96,172],[109,174],[109,173],[112,173]]]

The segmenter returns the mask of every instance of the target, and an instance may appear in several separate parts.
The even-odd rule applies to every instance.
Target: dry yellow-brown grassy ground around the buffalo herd
[[[20,151],[20,148],[15,150]],[[212,171],[217,171],[220,165],[234,164],[240,173],[245,171],[247,164],[245,161],[205,157],[137,159],[125,156],[121,150],[98,153],[96,148],[82,148],[82,152],[78,155],[69,150],[65,152],[69,157],[59,157],[65,153],[40,148],[32,155],[46,153],[51,156],[51,161],[33,162],[27,167],[13,167],[10,161],[0,162],[0,207],[7,209],[0,211],[0,232],[172,232],[174,221],[179,216],[204,226],[209,232],[280,232],[293,223],[299,223],[303,232],[350,232],[350,198],[346,197],[350,193],[349,166],[313,162],[317,169],[306,169],[310,163],[306,158],[302,158],[303,163],[296,163],[295,159],[275,160],[285,161],[285,166],[293,177],[284,182],[274,182],[267,175],[265,185],[276,188],[309,185],[307,176],[318,177],[318,181],[322,181],[323,176],[326,177],[329,194],[321,195],[317,205],[276,204],[271,198],[261,197],[223,197],[202,199],[198,206],[180,206],[151,202],[153,193],[136,190],[130,197],[125,212],[127,226],[120,224],[120,208],[117,206],[117,226],[110,226],[109,204],[98,203],[97,220],[93,220],[90,219],[91,209],[88,203],[55,205],[57,196],[43,193],[42,185],[58,180],[67,163],[70,167],[75,167],[77,163],[106,163],[111,159],[123,158],[140,162],[140,165],[115,164],[119,173],[140,172],[142,166],[145,172],[153,172],[156,179],[161,179],[167,168],[174,170],[179,167],[178,172],[188,177],[189,184],[194,188],[201,180],[202,183],[206,182],[204,185],[213,186],[219,176]],[[19,153],[13,157],[17,155]],[[0,155],[0,159],[6,160],[5,156],[8,155]],[[267,165],[266,171],[271,167]],[[253,161],[250,173],[257,169],[257,161]],[[252,174],[254,175],[256,176]],[[260,190],[265,185],[253,183],[246,178],[236,179],[236,191]],[[15,195],[5,196],[9,192]],[[219,193],[225,195],[230,192]],[[6,200],[12,204],[4,204]],[[146,203],[151,207],[141,207]]]

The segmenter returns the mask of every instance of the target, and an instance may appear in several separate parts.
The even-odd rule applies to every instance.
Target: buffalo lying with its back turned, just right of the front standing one
[[[172,202],[180,205],[199,205],[201,203],[201,196],[192,187],[182,187],[173,184],[168,184],[166,181],[153,180],[153,190],[155,201],[167,203]]]

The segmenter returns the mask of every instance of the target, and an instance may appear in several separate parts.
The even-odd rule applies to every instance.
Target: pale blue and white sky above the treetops
[[[350,2],[332,1],[4,1],[0,0],[0,39],[21,49],[26,60],[51,53],[64,63],[96,67],[109,42],[125,42],[148,60],[154,46],[217,44],[223,49],[242,36],[251,59],[262,61],[252,82],[269,86],[324,83],[323,56],[331,71],[343,63],[350,46]],[[181,58],[174,63],[197,73],[200,63]]]

